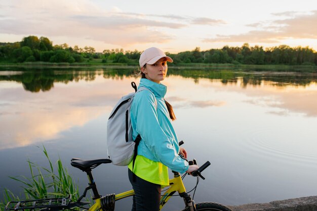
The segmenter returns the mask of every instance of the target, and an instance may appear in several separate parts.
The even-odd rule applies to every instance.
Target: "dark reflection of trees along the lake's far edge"
[[[19,74],[12,74],[17,72]],[[7,73],[7,74],[6,74]],[[2,70],[0,81],[16,81],[22,83],[23,88],[31,92],[49,91],[54,87],[54,82],[65,83],[69,81],[93,81],[96,75],[104,78],[123,79],[134,74],[130,69],[41,69],[41,70]],[[317,81],[316,73],[275,72],[275,71],[237,71],[237,70],[208,70],[208,69],[174,69],[170,68],[168,75],[192,78],[195,83],[199,79],[220,80],[223,84],[236,84],[242,87],[247,85],[257,86],[268,82],[275,86],[307,86]]]

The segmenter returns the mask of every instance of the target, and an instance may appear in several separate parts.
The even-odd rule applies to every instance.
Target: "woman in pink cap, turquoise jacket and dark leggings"
[[[167,74],[167,62],[173,60],[156,47],[144,50],[139,60],[139,87],[149,90],[136,93],[130,109],[133,138],[138,134],[142,138],[134,166],[133,162],[129,165],[129,179],[135,191],[132,210],[159,210],[161,185],[169,185],[168,168],[181,174],[198,169],[179,156],[180,153],[186,158],[187,152],[178,146],[171,124],[176,118],[164,100],[167,87],[161,84]]]

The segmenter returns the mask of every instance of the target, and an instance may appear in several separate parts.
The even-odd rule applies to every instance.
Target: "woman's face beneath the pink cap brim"
[[[167,74],[167,60],[163,57],[152,65],[146,64],[145,68],[141,68],[141,71],[145,74],[147,79],[155,83],[160,83],[165,79]]]

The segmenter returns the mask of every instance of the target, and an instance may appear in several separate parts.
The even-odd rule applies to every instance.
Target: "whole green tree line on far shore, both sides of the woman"
[[[247,64],[247,65],[317,65],[317,52],[306,46],[290,47],[280,45],[263,49],[262,46],[241,47],[228,45],[221,49],[183,51],[177,54],[166,54],[173,58],[174,65],[205,63],[205,64]],[[99,59],[102,63],[122,63],[137,65],[141,51],[125,51],[124,49],[105,49],[96,52],[95,48],[80,48],[64,43],[54,45],[47,37],[28,36],[15,43],[0,43],[0,62],[52,62],[82,63]]]

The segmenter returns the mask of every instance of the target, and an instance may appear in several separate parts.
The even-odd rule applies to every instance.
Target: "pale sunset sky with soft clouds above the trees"
[[[34,35],[97,52],[156,46],[177,53],[228,46],[317,50],[315,0],[0,0],[0,42]]]

